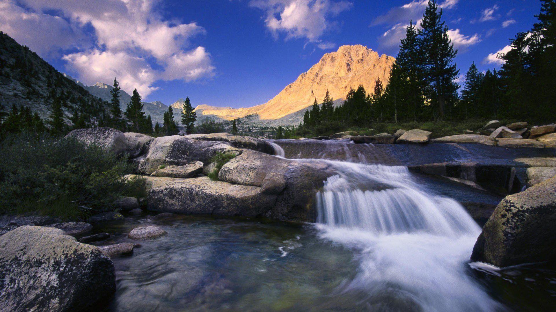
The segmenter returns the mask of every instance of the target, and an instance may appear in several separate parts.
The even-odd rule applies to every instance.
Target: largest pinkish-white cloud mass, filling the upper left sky
[[[7,24],[7,29],[26,27],[21,32],[34,41],[25,38],[19,41],[33,44],[37,51],[73,48],[63,59],[66,67],[86,84],[111,82],[117,77],[126,92],[137,88],[146,97],[156,90],[153,84],[158,80],[190,82],[214,75],[210,53],[204,47],[191,47],[191,40],[205,34],[205,29],[196,23],[165,21],[155,10],[158,0],[19,0],[18,3],[21,6],[11,0],[3,2],[0,16],[19,12],[20,16],[27,14],[34,19],[17,23],[3,18],[0,25]],[[57,22],[54,24],[57,27],[36,26],[48,22]],[[2,28],[5,29],[4,25]],[[44,29],[54,38],[44,36]],[[59,36],[57,29],[60,29]],[[76,41],[76,38],[85,39]],[[83,43],[87,41],[89,44]],[[78,44],[72,47],[75,42]]]

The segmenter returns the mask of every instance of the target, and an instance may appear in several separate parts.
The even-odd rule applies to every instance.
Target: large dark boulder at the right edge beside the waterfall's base
[[[504,267],[556,259],[556,177],[505,197],[479,235],[471,260]]]

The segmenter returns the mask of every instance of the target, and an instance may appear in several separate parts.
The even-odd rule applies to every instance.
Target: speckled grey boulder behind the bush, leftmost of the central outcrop
[[[128,140],[120,130],[112,128],[86,128],[69,132],[66,138],[74,138],[86,144],[96,144],[116,154],[127,152]]]

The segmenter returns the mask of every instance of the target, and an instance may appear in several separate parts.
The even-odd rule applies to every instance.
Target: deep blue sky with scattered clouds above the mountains
[[[145,100],[249,107],[265,103],[322,54],[363,44],[395,56],[426,1],[0,0],[0,30],[86,84],[140,90]],[[465,74],[527,31],[537,0],[441,0]],[[489,54],[492,54],[489,57]]]

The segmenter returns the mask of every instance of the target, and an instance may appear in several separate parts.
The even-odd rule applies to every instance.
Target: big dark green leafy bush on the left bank
[[[10,135],[0,142],[0,213],[80,219],[110,210],[136,180],[125,157],[75,139]],[[144,183],[143,183],[144,184]]]

